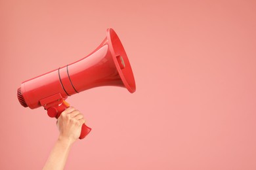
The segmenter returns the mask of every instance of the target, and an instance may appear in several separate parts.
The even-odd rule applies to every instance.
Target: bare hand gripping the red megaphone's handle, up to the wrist
[[[81,126],[85,123],[83,114],[74,107],[64,110],[57,120],[58,130],[60,131],[59,140],[74,143],[80,136]]]

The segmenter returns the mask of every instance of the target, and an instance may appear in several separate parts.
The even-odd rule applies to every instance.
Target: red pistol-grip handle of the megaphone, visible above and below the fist
[[[68,107],[70,107],[70,104],[68,104],[66,101],[64,101],[64,99],[62,99],[62,101],[60,101],[62,103],[62,105],[58,105],[58,107],[49,107],[49,109],[47,109],[47,114],[51,117],[51,118],[57,118],[60,116],[60,114],[62,114],[62,112],[64,110],[66,110]],[[80,133],[80,137],[79,139],[83,139],[86,137],[86,135],[88,135],[91,131],[91,127],[86,126],[85,124],[83,124],[83,126],[81,127],[81,133]]]

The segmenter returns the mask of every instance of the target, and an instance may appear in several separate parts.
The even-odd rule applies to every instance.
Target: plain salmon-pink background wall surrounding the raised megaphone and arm
[[[67,99],[91,134],[66,169],[256,169],[256,1],[0,1],[0,169],[41,169],[58,137],[20,83],[92,52],[113,27],[137,92]]]

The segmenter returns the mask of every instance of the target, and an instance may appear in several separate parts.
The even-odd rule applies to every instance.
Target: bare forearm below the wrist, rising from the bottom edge
[[[51,150],[51,154],[45,163],[43,170],[64,169],[71,146],[72,142],[70,140],[59,137],[54,144],[53,150]]]

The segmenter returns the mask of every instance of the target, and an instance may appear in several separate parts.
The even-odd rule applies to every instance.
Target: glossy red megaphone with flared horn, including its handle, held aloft
[[[127,54],[114,29],[107,29],[104,41],[85,58],[22,82],[17,90],[23,107],[44,107],[58,118],[70,105],[68,96],[98,86],[119,86],[135,92],[135,78]],[[91,131],[83,124],[79,139]]]

